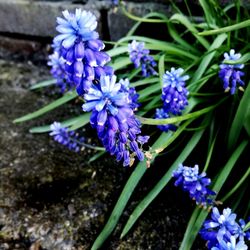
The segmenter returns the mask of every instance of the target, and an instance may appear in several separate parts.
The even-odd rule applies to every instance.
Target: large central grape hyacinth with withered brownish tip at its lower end
[[[99,139],[123,166],[132,165],[134,156],[144,160],[142,145],[148,137],[140,136],[140,122],[130,107],[129,95],[116,83],[116,76],[101,76],[84,95],[84,111],[92,111],[90,124],[97,130]]]

